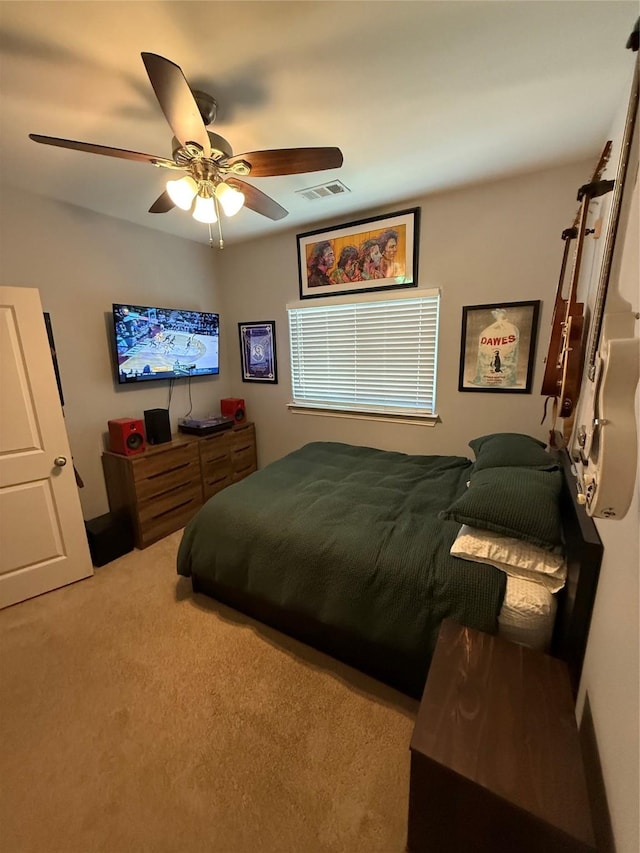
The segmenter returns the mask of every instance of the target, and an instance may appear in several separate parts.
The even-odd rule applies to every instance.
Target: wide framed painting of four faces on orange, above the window
[[[298,234],[300,298],[418,286],[420,208]]]

